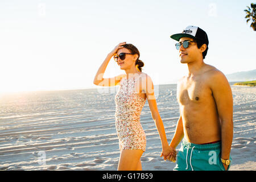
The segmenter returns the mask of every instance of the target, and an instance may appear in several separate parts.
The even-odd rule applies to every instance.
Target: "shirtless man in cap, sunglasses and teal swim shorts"
[[[227,170],[233,139],[229,82],[222,72],[204,63],[209,44],[205,31],[188,26],[171,38],[179,41],[175,46],[180,62],[188,66],[188,74],[177,83],[180,117],[170,146],[176,148],[184,139],[174,170]]]

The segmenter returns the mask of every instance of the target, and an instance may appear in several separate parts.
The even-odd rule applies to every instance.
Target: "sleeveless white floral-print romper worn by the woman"
[[[146,135],[140,122],[141,111],[146,99],[135,90],[136,78],[122,78],[115,95],[115,127],[119,148],[125,150],[146,149]]]

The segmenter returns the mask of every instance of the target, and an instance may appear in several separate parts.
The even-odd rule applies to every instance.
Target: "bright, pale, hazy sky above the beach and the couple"
[[[205,30],[205,63],[224,74],[256,68],[256,31],[246,23],[255,1],[0,1],[0,92],[97,88],[100,65],[120,42],[141,53],[154,84],[187,74],[170,35]],[[110,60],[104,77],[121,73]]]

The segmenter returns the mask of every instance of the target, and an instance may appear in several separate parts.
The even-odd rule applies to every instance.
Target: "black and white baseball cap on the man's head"
[[[183,32],[181,32],[181,34],[174,34],[170,36],[172,39],[179,41],[180,38],[192,38],[192,39],[196,39],[196,40],[201,40],[203,43],[209,44],[209,40],[208,40],[208,36],[207,33],[202,30],[199,27],[196,26],[188,26],[187,28],[185,28],[185,30],[183,30]]]

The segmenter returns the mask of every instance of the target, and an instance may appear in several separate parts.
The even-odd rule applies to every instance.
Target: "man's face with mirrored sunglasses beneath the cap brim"
[[[184,42],[185,40],[194,41],[192,38],[180,38],[179,42]],[[192,63],[199,59],[200,56],[202,56],[202,53],[200,52],[200,49],[197,48],[195,42],[189,42],[187,48],[184,48],[183,44],[180,46],[179,56],[180,63]]]

